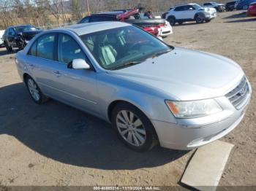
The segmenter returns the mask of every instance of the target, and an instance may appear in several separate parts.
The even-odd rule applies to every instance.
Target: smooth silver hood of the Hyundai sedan
[[[182,101],[225,95],[244,76],[241,67],[228,58],[184,48],[108,73]]]

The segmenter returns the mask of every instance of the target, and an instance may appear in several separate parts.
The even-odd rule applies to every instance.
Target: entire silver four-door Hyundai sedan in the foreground
[[[251,86],[237,63],[172,47],[127,23],[42,32],[16,55],[31,98],[53,98],[113,124],[124,144],[194,149],[244,117]]]

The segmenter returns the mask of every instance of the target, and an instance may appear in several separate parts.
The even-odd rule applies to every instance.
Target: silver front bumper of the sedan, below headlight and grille
[[[252,89],[249,86],[246,102],[241,109],[236,109],[224,96],[216,98],[217,102],[222,102],[223,111],[219,114],[186,120],[177,119],[177,123],[151,120],[160,145],[168,149],[189,150],[222,138],[243,119],[251,93]]]

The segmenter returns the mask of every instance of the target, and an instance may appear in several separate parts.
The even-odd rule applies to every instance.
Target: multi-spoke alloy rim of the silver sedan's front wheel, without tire
[[[146,141],[146,130],[140,118],[133,112],[121,110],[116,116],[116,127],[121,137],[135,147],[140,147]]]

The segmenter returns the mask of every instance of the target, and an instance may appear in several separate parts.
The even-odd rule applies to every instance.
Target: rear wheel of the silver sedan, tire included
[[[29,95],[37,104],[43,104],[48,101],[48,98],[42,94],[42,91],[39,89],[34,79],[31,77],[26,77],[26,87],[29,90]]]

